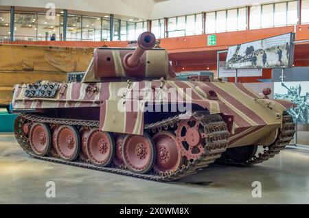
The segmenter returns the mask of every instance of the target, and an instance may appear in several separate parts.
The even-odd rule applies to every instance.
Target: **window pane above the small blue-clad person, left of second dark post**
[[[61,40],[60,14],[55,19],[47,19],[46,14],[38,14],[38,40],[50,40],[52,34],[56,34],[56,40]]]

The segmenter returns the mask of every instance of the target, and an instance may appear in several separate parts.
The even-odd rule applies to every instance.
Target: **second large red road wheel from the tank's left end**
[[[72,125],[62,125],[56,133],[56,150],[60,158],[73,161],[80,153],[80,135]]]

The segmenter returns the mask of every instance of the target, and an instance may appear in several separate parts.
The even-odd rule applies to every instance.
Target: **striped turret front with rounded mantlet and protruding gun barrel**
[[[104,77],[174,77],[165,49],[153,49],[156,37],[144,32],[137,48],[99,48],[93,53],[93,73]]]

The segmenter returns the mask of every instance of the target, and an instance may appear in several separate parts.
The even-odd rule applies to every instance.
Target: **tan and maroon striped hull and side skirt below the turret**
[[[152,80],[60,84],[52,99],[25,97],[26,88],[26,85],[15,86],[14,109],[96,107],[100,108],[101,130],[126,134],[143,134],[146,103],[160,105],[188,101],[211,114],[233,116],[230,147],[258,142],[267,146],[273,140],[261,139],[265,136],[275,138],[283,110],[294,107],[290,101],[264,99],[243,84],[224,82]],[[176,93],[167,99],[160,95],[161,91],[171,88]],[[130,110],[132,108],[140,110]]]

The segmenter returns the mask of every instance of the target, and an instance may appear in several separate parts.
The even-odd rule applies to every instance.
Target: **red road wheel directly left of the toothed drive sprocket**
[[[158,132],[153,136],[157,149],[157,158],[154,169],[157,173],[161,171],[176,171],[183,165],[181,150],[177,146],[176,136],[172,132]]]

